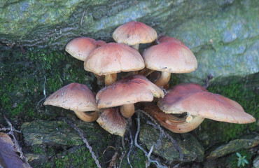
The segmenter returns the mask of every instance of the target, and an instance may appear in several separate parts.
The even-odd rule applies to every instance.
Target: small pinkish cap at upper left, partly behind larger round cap
[[[95,48],[97,48],[96,41],[90,37],[74,38],[66,44],[66,52],[81,61],[85,61],[86,57]]]

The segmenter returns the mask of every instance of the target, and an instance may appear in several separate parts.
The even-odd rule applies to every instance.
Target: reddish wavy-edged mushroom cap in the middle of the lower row
[[[97,93],[99,109],[137,102],[152,102],[153,97],[164,97],[163,90],[145,76],[134,75],[104,87]]]

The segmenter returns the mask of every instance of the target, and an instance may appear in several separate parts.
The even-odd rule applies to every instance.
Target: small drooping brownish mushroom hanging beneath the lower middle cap
[[[123,137],[127,126],[127,121],[121,115],[118,108],[102,109],[97,123],[104,130],[120,137]]]

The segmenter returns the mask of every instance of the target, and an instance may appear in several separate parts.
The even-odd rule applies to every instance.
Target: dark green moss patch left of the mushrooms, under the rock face
[[[27,121],[55,117],[53,112],[45,113],[42,106],[44,83],[46,96],[72,82],[88,83],[83,62],[65,52],[0,50],[0,104],[8,118],[18,116]]]

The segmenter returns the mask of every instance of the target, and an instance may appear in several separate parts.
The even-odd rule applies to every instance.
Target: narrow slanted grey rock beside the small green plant
[[[258,146],[258,144],[259,136],[249,136],[242,139],[235,139],[230,141],[228,144],[216,148],[216,150],[212,151],[207,158],[219,158],[223,155],[228,155],[229,153],[234,153],[235,151],[239,151],[244,148],[253,148],[254,146]]]

